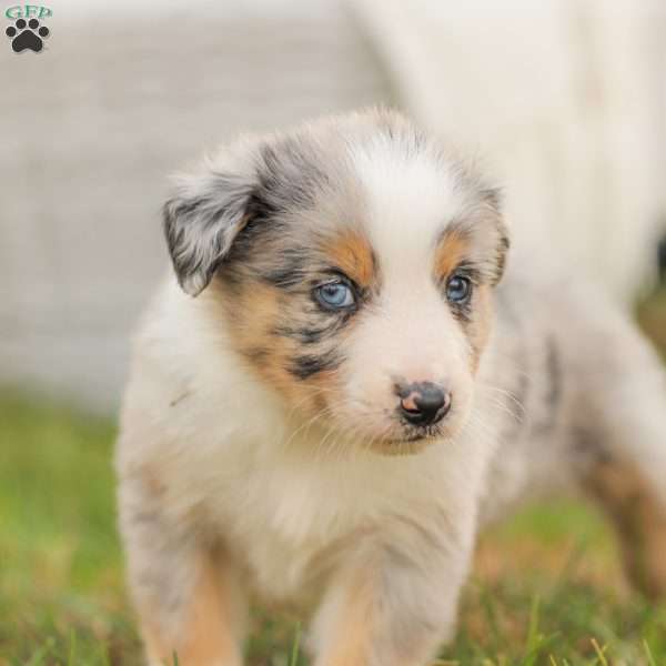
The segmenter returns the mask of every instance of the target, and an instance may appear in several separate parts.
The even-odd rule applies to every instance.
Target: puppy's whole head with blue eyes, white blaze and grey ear
[[[495,193],[401,117],[238,145],[181,183],[165,230],[183,289],[212,281],[304,427],[393,453],[465,423],[506,233]]]

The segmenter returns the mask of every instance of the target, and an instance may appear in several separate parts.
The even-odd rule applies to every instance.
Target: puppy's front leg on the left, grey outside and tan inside
[[[129,578],[150,666],[241,666],[245,603],[232,564],[143,484],[120,486]]]

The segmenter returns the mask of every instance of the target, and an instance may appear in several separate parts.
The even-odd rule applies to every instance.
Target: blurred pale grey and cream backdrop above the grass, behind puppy
[[[480,154],[518,240],[626,303],[656,279],[662,0],[49,8],[41,53],[0,49],[6,383],[112,412],[129,332],[167,266],[168,175],[241,130],[374,103]]]

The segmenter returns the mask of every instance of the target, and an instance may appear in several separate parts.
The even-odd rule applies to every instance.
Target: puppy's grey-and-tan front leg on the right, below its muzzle
[[[313,626],[316,666],[425,666],[454,629],[468,548],[408,542],[334,579]]]

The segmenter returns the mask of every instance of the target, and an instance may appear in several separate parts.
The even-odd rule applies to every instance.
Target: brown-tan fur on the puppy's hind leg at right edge
[[[666,507],[630,463],[602,462],[586,486],[613,519],[632,584],[650,598],[666,595]]]

